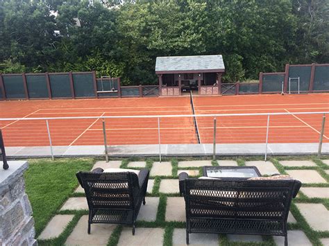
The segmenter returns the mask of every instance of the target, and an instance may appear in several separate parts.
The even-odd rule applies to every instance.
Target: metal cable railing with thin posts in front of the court
[[[174,114],[0,118],[6,146],[108,146],[194,144],[212,146],[212,157],[221,144],[262,143],[267,160],[271,143],[329,142],[329,112],[273,112],[255,114]],[[327,124],[328,125],[328,124]],[[196,132],[198,134],[196,135]],[[201,144],[202,143],[202,144]],[[207,147],[208,148],[208,147]],[[209,147],[210,148],[210,147]],[[242,151],[243,155],[243,151]]]

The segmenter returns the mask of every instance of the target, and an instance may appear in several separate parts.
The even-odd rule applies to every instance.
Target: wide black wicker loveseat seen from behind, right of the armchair
[[[191,233],[284,236],[292,197],[301,182],[238,178],[192,179],[179,175],[184,195],[186,243]]]

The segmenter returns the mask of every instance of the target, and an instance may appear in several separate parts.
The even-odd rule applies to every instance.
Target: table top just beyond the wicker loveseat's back
[[[255,166],[204,166],[205,177],[260,177],[260,171]]]

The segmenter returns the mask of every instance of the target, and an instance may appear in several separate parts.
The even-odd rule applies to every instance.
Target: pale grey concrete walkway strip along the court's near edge
[[[221,143],[216,145],[216,155],[264,155],[265,143]],[[317,154],[318,143],[269,143],[267,155],[312,155]],[[56,157],[82,157],[104,155],[104,146],[54,146],[53,155]],[[126,145],[108,146],[108,153],[112,157],[145,157],[158,156],[159,146]],[[203,156],[212,155],[212,144],[162,144],[163,156]],[[38,147],[6,147],[8,157],[50,157],[49,146]],[[329,154],[329,143],[323,143],[322,154]]]

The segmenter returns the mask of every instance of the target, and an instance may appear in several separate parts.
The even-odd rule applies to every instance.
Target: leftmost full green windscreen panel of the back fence
[[[3,85],[6,91],[6,98],[8,99],[25,98],[22,75],[17,75],[17,76],[3,75],[2,78],[3,78]]]

